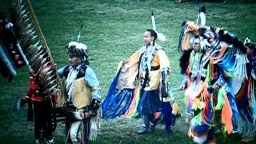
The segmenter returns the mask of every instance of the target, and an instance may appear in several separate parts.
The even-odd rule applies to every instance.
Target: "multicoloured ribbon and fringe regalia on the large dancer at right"
[[[234,34],[214,29],[212,26],[197,28],[193,22],[186,22],[183,29],[185,30],[182,32],[186,34],[183,34],[184,38],[180,38],[180,49],[185,51],[189,48],[191,34],[199,35],[203,54],[199,62],[201,82],[198,82],[198,85],[192,82],[186,89],[186,94],[190,94],[187,106],[192,105],[190,112],[194,112],[190,113],[194,114],[190,122],[190,137],[194,142],[203,143],[214,141],[214,129],[222,130],[227,134],[231,134],[234,130],[246,130],[241,123],[250,122],[253,118],[242,117],[242,115],[252,114],[249,113],[252,109],[246,108],[250,105],[245,94],[247,90],[243,87],[247,86],[246,63],[248,60],[242,42]],[[209,41],[210,38],[212,42]],[[191,62],[196,61],[190,61],[187,67],[191,66]],[[184,70],[186,69],[182,67],[183,72]],[[188,69],[190,70],[191,68]],[[215,73],[218,74],[218,79],[214,78]],[[216,89],[213,86],[219,88]],[[241,90],[240,93],[243,91],[242,99],[245,101],[239,102],[241,106],[238,105],[239,90]]]

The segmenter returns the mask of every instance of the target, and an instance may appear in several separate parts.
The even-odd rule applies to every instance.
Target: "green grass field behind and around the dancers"
[[[155,14],[157,30],[166,35],[167,40],[161,45],[171,62],[170,88],[175,88],[182,81],[177,50],[181,24],[186,20],[196,20],[199,6],[206,6],[206,25],[223,27],[242,40],[249,37],[256,42],[256,4],[241,2],[228,0],[226,3],[202,2],[196,5],[194,2],[180,4],[173,0],[31,0],[58,67],[68,62],[64,47],[77,39],[79,27],[84,26],[80,42],[88,46],[90,64],[101,82],[102,98],[114,78],[118,62],[142,46],[142,34],[152,28],[151,12]],[[11,5],[10,0],[0,0],[0,10],[7,16],[10,16],[8,9]],[[34,141],[34,127],[26,123],[26,108],[17,114],[11,111],[14,98],[24,96],[28,90],[27,71],[26,66],[19,69],[11,83],[0,77],[0,143]],[[175,93],[174,97],[183,116],[182,92]],[[102,120],[98,139],[91,143],[191,143],[186,135],[188,127],[182,118],[178,119],[170,135],[166,135],[161,125],[154,134],[138,135],[136,130],[140,123],[140,119]],[[55,143],[64,143],[62,131],[62,124],[58,124],[54,133]],[[219,138],[218,143],[239,143],[239,138],[236,135],[226,141]]]

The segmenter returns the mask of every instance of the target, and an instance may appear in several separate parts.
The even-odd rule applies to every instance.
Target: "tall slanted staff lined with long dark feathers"
[[[58,77],[52,68],[54,60],[29,0],[14,0],[12,22],[15,46],[30,72],[37,75],[42,96],[47,97],[57,88]]]

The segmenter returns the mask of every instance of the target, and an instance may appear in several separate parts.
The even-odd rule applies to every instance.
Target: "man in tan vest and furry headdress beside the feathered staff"
[[[66,142],[80,142],[78,131],[82,123],[82,143],[86,144],[90,136],[92,139],[97,136],[95,116],[101,105],[101,90],[98,78],[89,66],[87,46],[81,42],[70,42],[67,49],[70,64],[59,69],[58,74],[66,79],[64,107],[78,116],[66,120]],[[94,131],[90,134],[91,118],[94,118],[91,126]]]

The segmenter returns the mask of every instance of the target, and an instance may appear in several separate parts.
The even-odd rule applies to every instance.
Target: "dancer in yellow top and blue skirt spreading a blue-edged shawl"
[[[138,134],[153,132],[157,124],[155,114],[162,111],[166,132],[171,132],[174,114],[168,97],[170,61],[162,46],[156,42],[158,33],[146,30],[144,45],[130,58],[119,63],[118,72],[104,102],[102,117],[130,118],[138,114],[144,123]]]

